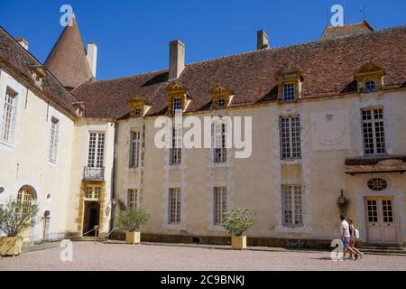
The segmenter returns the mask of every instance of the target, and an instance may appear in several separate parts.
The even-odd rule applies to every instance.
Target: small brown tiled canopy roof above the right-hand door
[[[346,160],[346,173],[406,172],[406,156]]]

